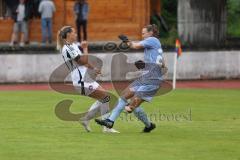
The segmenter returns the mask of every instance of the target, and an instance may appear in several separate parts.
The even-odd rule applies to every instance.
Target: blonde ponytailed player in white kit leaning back
[[[94,80],[85,77],[87,75],[87,69],[92,69],[96,74],[100,74],[101,71],[93,67],[88,62],[88,44],[86,41],[81,43],[82,51],[76,44],[77,34],[73,27],[64,26],[58,31],[57,37],[57,49],[61,52],[65,64],[71,71],[71,78],[74,88],[81,94],[97,99],[97,101],[90,107],[85,119],[81,121],[87,132],[90,132],[89,121],[96,116],[100,111],[101,115],[104,115],[109,110],[110,96],[106,91]],[[104,116],[102,116],[104,118]],[[103,128],[103,132],[119,133],[114,129]]]

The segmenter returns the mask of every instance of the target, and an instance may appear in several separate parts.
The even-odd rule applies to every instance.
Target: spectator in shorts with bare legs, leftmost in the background
[[[30,10],[26,6],[25,0],[19,0],[19,5],[12,15],[14,26],[10,46],[13,46],[18,42],[19,33],[21,33],[20,46],[23,47],[26,43],[28,43],[28,20],[30,18],[29,14]]]

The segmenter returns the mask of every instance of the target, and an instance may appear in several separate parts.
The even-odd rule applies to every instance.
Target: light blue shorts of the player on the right
[[[142,100],[150,102],[160,88],[162,80],[139,78],[130,84],[130,91]]]

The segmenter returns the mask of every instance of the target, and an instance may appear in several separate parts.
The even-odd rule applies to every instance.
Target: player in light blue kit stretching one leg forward
[[[145,72],[123,91],[117,106],[113,109],[108,119],[95,120],[99,125],[112,128],[117,117],[125,109],[129,113],[133,112],[145,124],[143,132],[151,132],[156,128],[155,124],[149,121],[147,115],[139,106],[144,101],[151,101],[163,81],[163,68],[166,67],[158,35],[157,27],[148,25],[142,29],[143,40],[140,42],[130,42],[126,36],[120,37],[123,41],[128,41],[128,45],[133,49],[144,48],[144,62],[138,61],[138,64],[135,63],[135,65]],[[130,100],[129,103],[128,100]]]

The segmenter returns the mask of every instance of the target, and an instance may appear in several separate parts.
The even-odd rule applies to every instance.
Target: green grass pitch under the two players
[[[59,120],[55,105],[73,99],[73,112],[93,102],[53,91],[0,92],[1,160],[240,160],[240,91],[177,89],[143,104],[156,122],[150,134],[125,114],[121,134],[103,134],[91,122],[86,133],[77,122]]]

